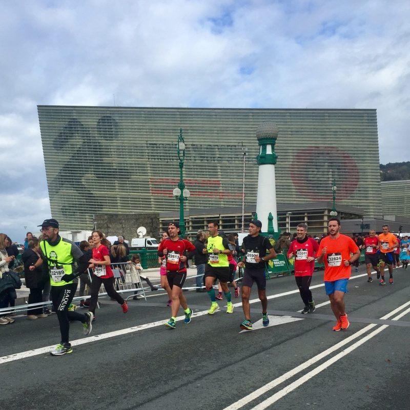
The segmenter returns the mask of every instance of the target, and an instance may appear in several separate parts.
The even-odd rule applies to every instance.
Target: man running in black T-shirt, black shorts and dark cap
[[[242,250],[245,256],[238,263],[239,268],[245,267],[242,278],[242,309],[245,319],[239,325],[241,329],[252,330],[251,307],[249,298],[254,282],[258,286],[258,296],[262,303],[262,324],[268,326],[268,299],[266,297],[266,276],[265,262],[276,258],[276,252],[273,249],[269,238],[260,235],[262,222],[253,220],[249,223],[249,235],[243,238]],[[267,255],[267,251],[269,251]]]

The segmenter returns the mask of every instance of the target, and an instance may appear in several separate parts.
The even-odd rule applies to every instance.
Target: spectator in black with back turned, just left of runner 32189
[[[37,238],[29,239],[28,249],[23,253],[24,277],[26,286],[30,289],[29,304],[43,302],[43,289],[46,282],[43,276],[43,259],[40,257],[40,247]],[[27,319],[47,317],[43,313],[43,306],[38,306],[27,311]]]

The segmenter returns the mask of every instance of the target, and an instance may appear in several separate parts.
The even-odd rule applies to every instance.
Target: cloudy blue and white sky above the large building
[[[409,22],[408,0],[0,0],[0,232],[51,217],[37,105],[376,108],[380,162],[408,160]]]

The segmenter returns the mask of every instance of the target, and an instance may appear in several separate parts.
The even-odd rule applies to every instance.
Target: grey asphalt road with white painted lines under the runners
[[[55,315],[17,316],[0,328],[0,409],[408,409],[410,269],[395,269],[385,286],[363,274],[352,273],[348,285],[344,332],[332,332],[322,272],[311,287],[318,308],[308,315],[297,312],[293,276],[268,281],[272,325],[261,327],[255,300],[251,332],[239,329],[240,298],[232,315],[223,300],[209,316],[207,294],[191,291],[191,323],[168,329],[168,298],[150,292],[147,302],[131,300],[127,314],[101,300],[92,334],[72,323],[73,353],[52,357]]]

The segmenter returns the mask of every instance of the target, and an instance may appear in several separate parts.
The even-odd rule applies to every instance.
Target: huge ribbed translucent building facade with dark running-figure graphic
[[[38,106],[53,218],[176,211],[177,137],[186,144],[186,209],[256,206],[256,130],[275,121],[278,203],[332,201],[381,215],[376,110]],[[267,183],[269,186],[269,183]]]

